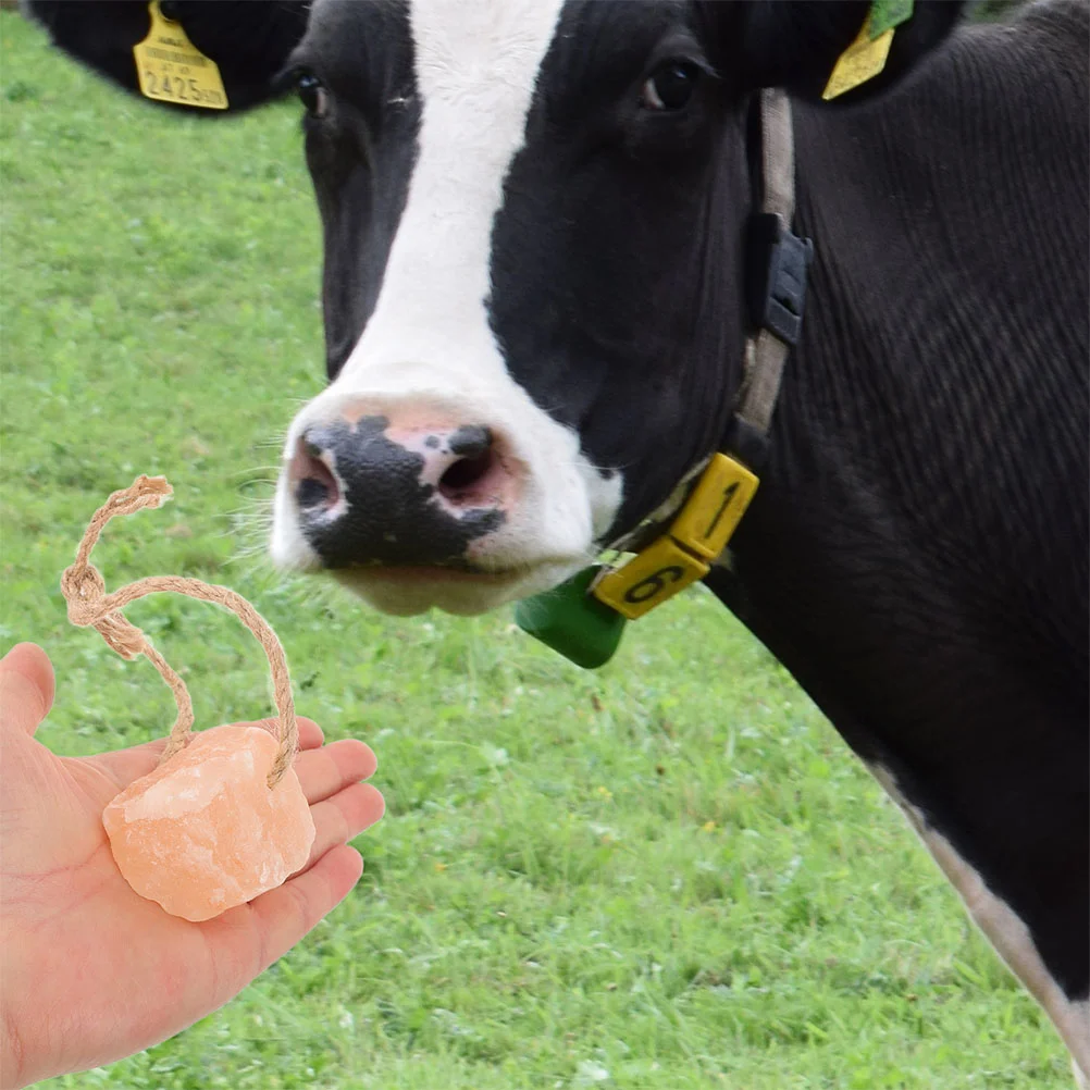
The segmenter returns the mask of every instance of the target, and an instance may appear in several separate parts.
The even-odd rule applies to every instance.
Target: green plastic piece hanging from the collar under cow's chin
[[[514,621],[577,666],[595,669],[609,662],[625,631],[625,618],[588,594],[601,568],[591,566],[566,583],[520,602]]]

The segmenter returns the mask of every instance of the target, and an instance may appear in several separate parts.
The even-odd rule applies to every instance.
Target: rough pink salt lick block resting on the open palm
[[[294,768],[268,786],[278,748],[263,727],[214,727],[118,795],[102,824],[133,889],[208,920],[303,867],[314,819]]]

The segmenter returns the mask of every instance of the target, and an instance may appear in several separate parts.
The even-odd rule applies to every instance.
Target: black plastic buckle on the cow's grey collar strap
[[[747,250],[750,324],[794,347],[802,327],[807,267],[814,244],[792,234],[775,213],[755,213],[750,217]]]

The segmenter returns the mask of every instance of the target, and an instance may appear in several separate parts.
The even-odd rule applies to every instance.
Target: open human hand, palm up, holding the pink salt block
[[[363,860],[347,840],[383,815],[375,755],[323,746],[299,720],[299,782],[317,835],[306,867],[203,923],[169,916],[121,876],[102,809],[150,772],[165,740],[55,756],[34,731],[53,670],[32,643],[0,661],[0,1087],[108,1064],[235,996],[349,893]]]

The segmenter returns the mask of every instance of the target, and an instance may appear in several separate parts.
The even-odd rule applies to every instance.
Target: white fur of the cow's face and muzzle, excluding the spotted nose
[[[485,310],[493,222],[562,2],[413,0],[423,113],[405,208],[363,336],[288,434],[271,554],[293,568],[318,567],[287,477],[296,440],[312,424],[342,410],[359,415],[363,407],[391,421],[424,412],[455,425],[484,424],[502,437],[520,474],[520,500],[473,554],[482,567],[508,574],[487,584],[393,582],[376,569],[343,577],[390,613],[432,605],[479,613],[553,585],[588,561],[620,504],[621,475],[605,480],[581,453],[576,432],[512,379]]]

